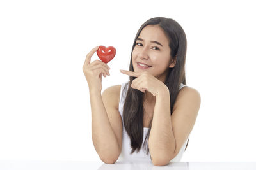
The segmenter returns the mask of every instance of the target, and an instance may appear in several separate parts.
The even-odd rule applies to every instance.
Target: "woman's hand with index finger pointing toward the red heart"
[[[142,72],[133,72],[120,70],[121,73],[127,74],[128,76],[137,77],[132,81],[131,87],[133,89],[138,89],[141,92],[145,92],[147,90],[153,96],[158,96],[159,94],[163,94],[164,92],[168,92],[168,87],[156,77],[152,76],[150,73],[146,71]]]

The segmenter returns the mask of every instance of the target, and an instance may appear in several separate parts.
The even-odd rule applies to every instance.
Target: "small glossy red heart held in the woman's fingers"
[[[106,48],[105,46],[100,45],[97,50],[97,55],[99,56],[100,60],[102,60],[102,62],[105,62],[107,64],[115,57],[116,48],[114,48],[113,46],[109,46],[108,48]]]

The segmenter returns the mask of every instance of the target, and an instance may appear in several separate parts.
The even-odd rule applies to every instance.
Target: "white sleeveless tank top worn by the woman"
[[[129,83],[129,81],[126,82],[126,83]],[[140,161],[140,162],[141,161],[150,161],[151,162],[150,152],[148,152],[148,155],[147,155],[147,152],[143,147],[144,140],[145,140],[145,137],[146,137],[148,129],[149,129],[147,127],[144,127],[143,143],[141,145],[140,151],[137,153],[137,150],[135,150],[132,154],[130,154],[131,150],[132,150],[131,149],[131,140],[130,140],[128,134],[127,134],[127,131],[124,128],[124,120],[123,120],[123,105],[124,105],[124,100],[125,100],[126,93],[127,93],[127,90],[128,90],[128,85],[127,85],[126,89],[124,89],[126,83],[122,83],[121,89],[120,89],[120,101],[119,101],[118,110],[119,110],[119,113],[122,117],[123,136],[122,136],[122,151],[121,151],[120,156],[118,157],[117,161],[122,161],[122,162],[126,162],[126,161],[128,161],[128,162],[129,161],[131,161],[131,162],[134,162],[134,161]],[[180,87],[179,87],[179,90],[184,86],[186,86],[186,85],[181,83]],[[182,154],[185,151],[186,144],[188,143],[188,139],[186,140],[184,145],[180,148],[180,152],[170,162],[179,162],[180,161],[180,159],[182,158]]]

